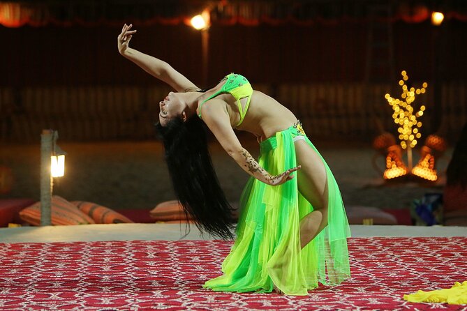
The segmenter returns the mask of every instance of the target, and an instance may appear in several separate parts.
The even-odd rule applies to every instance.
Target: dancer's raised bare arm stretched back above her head
[[[149,73],[149,75],[153,75],[169,84],[177,92],[198,90],[198,86],[193,84],[193,82],[188,80],[184,75],[181,75],[181,73],[172,68],[172,66],[165,61],[132,49],[129,43],[133,34],[136,33],[136,30],[131,30],[132,26],[132,24],[124,24],[121,33],[117,37],[117,47],[122,56],[133,61],[133,63],[140,66],[144,71]]]

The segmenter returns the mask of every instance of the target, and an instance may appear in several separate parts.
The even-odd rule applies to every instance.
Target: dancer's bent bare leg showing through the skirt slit
[[[297,171],[298,190],[314,208],[300,220],[300,244],[304,248],[327,226],[327,174],[320,155],[303,139],[295,142],[295,152],[297,165],[302,165]]]

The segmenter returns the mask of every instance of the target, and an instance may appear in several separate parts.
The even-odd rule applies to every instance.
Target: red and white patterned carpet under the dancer
[[[216,293],[231,243],[0,243],[0,309],[467,310],[403,294],[467,280],[467,238],[351,238],[353,278],[309,296]]]

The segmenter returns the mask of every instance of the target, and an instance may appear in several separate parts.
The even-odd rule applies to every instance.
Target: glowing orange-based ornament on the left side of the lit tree
[[[384,179],[395,179],[408,173],[402,161],[401,146],[396,144],[396,138],[390,132],[383,132],[373,141],[373,148],[379,151],[386,159]]]

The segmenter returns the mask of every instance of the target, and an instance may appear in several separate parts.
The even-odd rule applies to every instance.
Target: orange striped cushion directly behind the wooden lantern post
[[[75,205],[57,195],[52,196],[50,209],[52,225],[88,225],[95,223]],[[20,211],[20,218],[31,225],[39,226],[40,202],[36,202]]]

